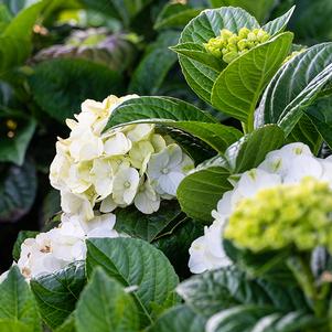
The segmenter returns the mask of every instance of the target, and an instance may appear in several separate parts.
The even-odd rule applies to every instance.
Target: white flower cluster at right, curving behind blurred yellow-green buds
[[[269,152],[257,169],[239,174],[236,180],[229,179],[234,189],[224,193],[216,211],[212,212],[213,224],[205,227],[204,235],[190,247],[190,270],[201,274],[231,264],[222,246],[222,233],[227,218],[243,199],[278,184],[299,183],[306,176],[325,181],[332,188],[332,156],[315,158],[308,146],[299,142]]]

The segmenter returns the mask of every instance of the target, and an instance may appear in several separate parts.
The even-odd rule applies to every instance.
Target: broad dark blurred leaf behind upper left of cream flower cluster
[[[108,95],[124,92],[118,73],[79,58],[41,63],[29,82],[39,106],[60,121],[73,117],[87,98],[103,100]]]

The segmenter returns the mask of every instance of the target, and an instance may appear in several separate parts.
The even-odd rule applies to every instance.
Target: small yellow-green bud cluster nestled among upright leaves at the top
[[[265,43],[269,38],[270,35],[263,29],[249,30],[248,28],[242,28],[237,34],[223,29],[221,34],[212,38],[204,44],[204,47],[207,53],[231,63],[253,47]]]

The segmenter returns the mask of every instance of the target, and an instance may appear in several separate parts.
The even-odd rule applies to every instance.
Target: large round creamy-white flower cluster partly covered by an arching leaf
[[[94,210],[109,213],[135,204],[144,214],[159,210],[162,199],[175,196],[193,161],[154,125],[139,124],[103,133],[113,110],[136,95],[103,103],[86,100],[71,135],[58,139],[51,165],[51,184],[61,191],[62,210],[92,219]]]

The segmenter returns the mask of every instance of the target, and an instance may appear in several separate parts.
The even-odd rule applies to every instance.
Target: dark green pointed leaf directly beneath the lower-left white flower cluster
[[[30,285],[45,323],[55,329],[75,309],[86,283],[84,263],[68,265],[54,274],[32,279]]]

